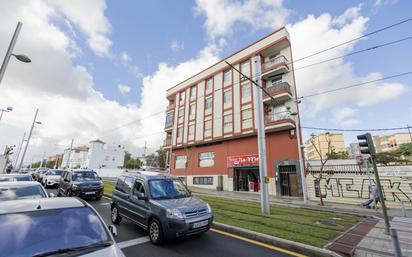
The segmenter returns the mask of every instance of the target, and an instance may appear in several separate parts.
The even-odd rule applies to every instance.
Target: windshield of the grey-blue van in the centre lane
[[[189,197],[190,193],[179,179],[154,179],[149,181],[152,199]]]

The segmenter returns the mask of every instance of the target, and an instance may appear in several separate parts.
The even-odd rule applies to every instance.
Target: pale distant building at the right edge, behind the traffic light
[[[397,132],[387,135],[373,136],[376,152],[394,151],[399,145],[412,142],[412,136],[408,132]]]

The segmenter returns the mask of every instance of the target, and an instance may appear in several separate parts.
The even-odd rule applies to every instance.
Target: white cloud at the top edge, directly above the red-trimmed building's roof
[[[235,27],[276,29],[285,24],[290,10],[282,0],[197,0],[196,14],[206,17],[205,28],[210,38],[230,36]]]

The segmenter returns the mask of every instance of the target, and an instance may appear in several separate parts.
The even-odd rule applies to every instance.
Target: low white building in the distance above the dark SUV
[[[62,166],[69,168],[120,168],[124,163],[125,151],[121,145],[107,145],[97,139],[89,142],[89,146],[73,148],[69,157],[69,149],[63,155]]]

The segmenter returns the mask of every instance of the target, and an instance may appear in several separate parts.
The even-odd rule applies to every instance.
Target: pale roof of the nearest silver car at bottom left
[[[0,215],[87,206],[75,197],[21,199],[0,202]]]

